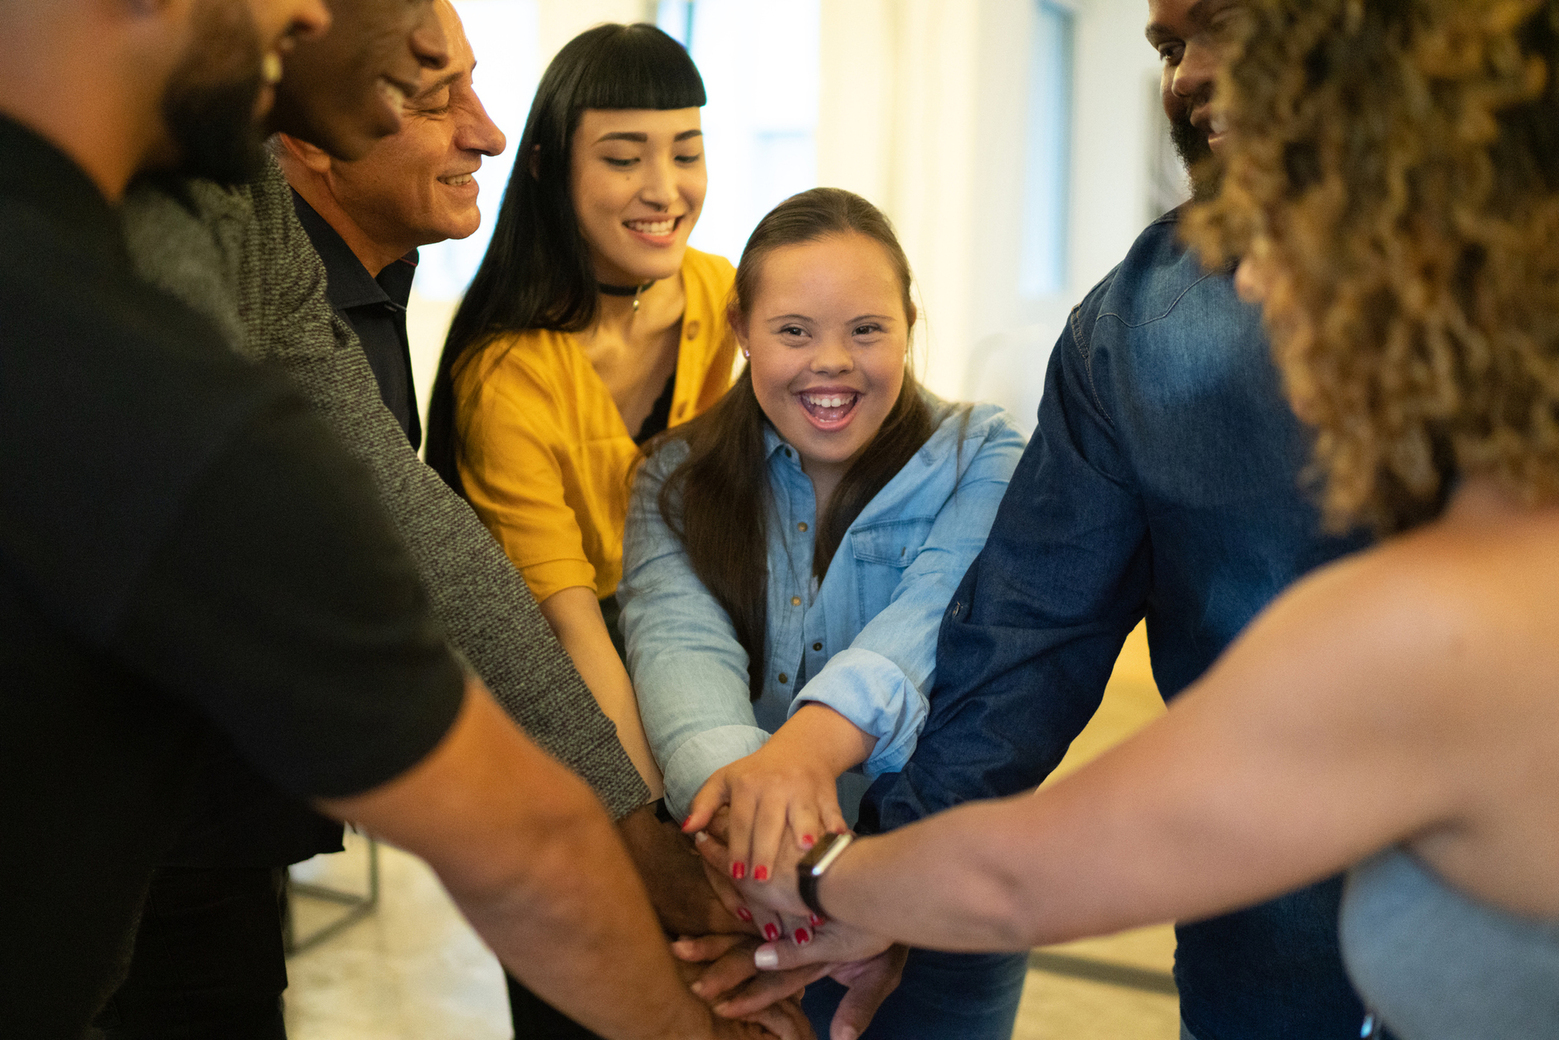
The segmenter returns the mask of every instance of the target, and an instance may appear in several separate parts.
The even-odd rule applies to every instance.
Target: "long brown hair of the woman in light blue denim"
[[[887,253],[903,287],[904,317],[914,320],[909,257],[893,225],[876,206],[840,189],[818,187],[776,206],[753,229],[736,268],[733,324],[751,313],[764,259],[778,248],[829,235],[861,234]],[[865,451],[840,477],[818,518],[812,574],[822,580],[839,544],[861,510],[904,468],[937,429],[910,371],[904,387]],[[769,418],[744,368],[736,385],[697,419],[667,430],[644,447],[645,457],[670,440],[688,446],[688,457],[666,477],[659,511],[681,541],[694,574],[714,596],[747,650],[747,681],[753,700],[764,688],[764,635],[769,625],[769,466],[764,427]]]

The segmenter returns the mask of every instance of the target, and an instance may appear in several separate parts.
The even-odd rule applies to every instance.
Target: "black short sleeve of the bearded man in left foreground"
[[[296,399],[201,474],[115,642],[299,797],[405,772],[465,689],[368,476]]]

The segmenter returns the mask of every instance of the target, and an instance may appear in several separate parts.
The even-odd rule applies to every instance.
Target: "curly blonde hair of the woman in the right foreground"
[[[1249,0],[1210,264],[1266,282],[1331,529],[1559,499],[1559,0]]]

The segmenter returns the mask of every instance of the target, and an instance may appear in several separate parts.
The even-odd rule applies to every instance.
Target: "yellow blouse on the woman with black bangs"
[[[736,337],[730,260],[688,249],[670,426],[731,384]],[[454,373],[460,479],[477,516],[544,600],[575,585],[597,597],[622,578],[628,469],[638,446],[617,404],[567,332],[494,338]]]

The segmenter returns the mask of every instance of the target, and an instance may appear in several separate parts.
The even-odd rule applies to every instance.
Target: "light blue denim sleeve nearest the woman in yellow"
[[[769,739],[748,699],[747,652],[656,504],[684,452],[673,441],[639,471],[617,586],[639,717],[677,819],[717,769]]]

